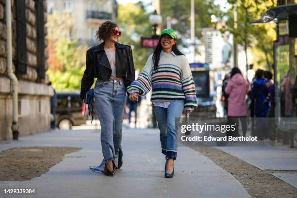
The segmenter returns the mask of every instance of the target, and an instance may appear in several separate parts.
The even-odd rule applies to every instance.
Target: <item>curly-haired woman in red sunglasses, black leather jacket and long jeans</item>
[[[94,171],[114,176],[122,166],[122,123],[126,103],[126,87],[134,81],[135,71],[130,46],[118,43],[122,32],[117,24],[106,21],[97,31],[97,39],[103,40],[86,53],[86,69],[82,77],[81,99],[97,78],[94,97],[101,124],[103,161],[90,166]]]

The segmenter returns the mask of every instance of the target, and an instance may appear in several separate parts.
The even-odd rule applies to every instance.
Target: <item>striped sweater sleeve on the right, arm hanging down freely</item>
[[[189,109],[191,107],[191,109],[194,109],[197,107],[196,88],[195,88],[192,72],[190,69],[190,65],[185,56],[183,56],[181,72],[182,72],[181,84],[182,84],[182,90],[185,96],[184,108]]]

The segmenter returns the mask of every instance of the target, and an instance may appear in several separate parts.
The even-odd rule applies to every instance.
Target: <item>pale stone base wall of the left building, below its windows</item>
[[[0,140],[12,139],[12,95],[10,80],[0,77]],[[5,85],[6,86],[3,86]],[[50,96],[53,89],[45,84],[20,80],[18,85],[19,135],[50,129]]]

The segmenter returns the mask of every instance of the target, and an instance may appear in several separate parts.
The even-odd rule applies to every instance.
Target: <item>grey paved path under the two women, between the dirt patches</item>
[[[102,160],[99,133],[94,130],[56,131],[0,143],[0,150],[14,147],[65,146],[82,148],[66,155],[49,172],[31,181],[0,181],[5,188],[34,188],[38,198],[249,198],[242,185],[221,167],[191,148],[180,147],[175,176],[164,178],[165,157],[157,130],[123,130],[124,164],[115,177],[92,172],[89,165]],[[19,198],[21,196],[15,195]]]

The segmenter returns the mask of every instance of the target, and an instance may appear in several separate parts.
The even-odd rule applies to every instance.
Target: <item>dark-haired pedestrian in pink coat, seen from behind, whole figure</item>
[[[242,76],[238,67],[233,67],[231,70],[230,80],[228,81],[225,93],[229,94],[228,97],[228,117],[232,124],[236,123],[235,131],[233,134],[228,135],[239,136],[238,134],[238,119],[242,125],[243,136],[247,132],[247,104],[246,95],[248,93],[248,82]]]

